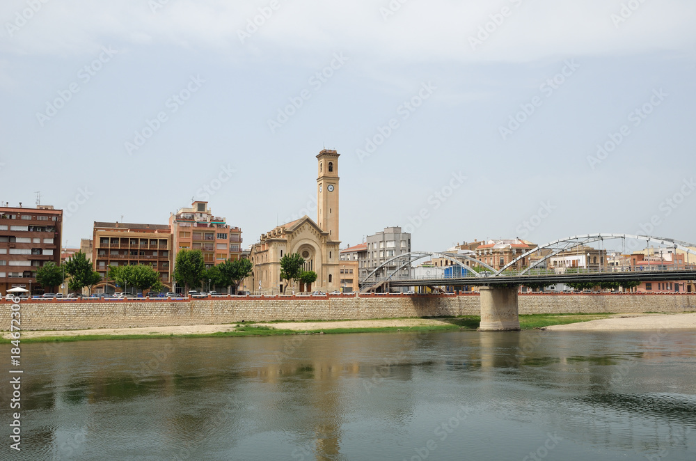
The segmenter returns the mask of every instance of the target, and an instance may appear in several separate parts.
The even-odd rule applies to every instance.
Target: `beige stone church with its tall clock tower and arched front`
[[[317,273],[312,290],[331,292],[340,290],[340,240],[338,157],[335,150],[322,150],[317,155],[317,220],[307,215],[276,226],[261,235],[251,247],[249,258],[253,274],[246,286],[263,295],[282,293],[286,280],[280,279],[280,258],[299,253],[304,259],[304,270]],[[307,290],[299,281],[292,281],[286,293]]]

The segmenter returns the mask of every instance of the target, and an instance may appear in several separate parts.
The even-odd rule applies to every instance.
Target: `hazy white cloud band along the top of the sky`
[[[164,44],[269,59],[341,49],[370,63],[478,63],[661,50],[693,54],[696,42],[690,21],[696,4],[689,0],[276,1],[276,10],[270,0],[48,1],[13,37],[5,31],[0,49],[63,55],[110,43]],[[152,8],[154,2],[161,8]],[[393,10],[390,3],[401,6]],[[616,24],[612,15],[627,3],[640,6]],[[25,1],[3,2],[5,24],[24,8]],[[264,12],[267,17],[257,21],[262,25],[242,43],[239,31]],[[472,37],[482,43],[473,47]]]

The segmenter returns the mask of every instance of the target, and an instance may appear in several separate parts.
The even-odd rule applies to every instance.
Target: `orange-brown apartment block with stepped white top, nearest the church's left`
[[[225,218],[216,217],[207,202],[193,202],[169,217],[173,235],[174,260],[180,249],[203,252],[205,267],[218,265],[242,255],[242,229],[231,227]]]

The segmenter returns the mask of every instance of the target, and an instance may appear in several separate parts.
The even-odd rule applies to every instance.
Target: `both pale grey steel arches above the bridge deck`
[[[535,253],[539,253],[541,258],[534,260],[533,263],[530,263],[528,267],[525,267],[525,269],[522,269],[520,272],[515,272],[515,279],[519,280],[521,279],[521,277],[525,275],[530,275],[530,271],[532,269],[535,269],[539,266],[544,266],[544,263],[546,263],[548,259],[553,258],[553,256],[556,256],[558,253],[562,253],[563,251],[569,251],[575,248],[580,248],[586,244],[594,244],[596,242],[599,242],[599,246],[601,249],[604,242],[613,240],[622,241],[624,249],[623,253],[626,253],[626,240],[629,240],[629,242],[642,240],[647,244],[653,242],[663,246],[672,247],[674,249],[679,249],[686,253],[687,256],[695,256],[695,258],[693,258],[693,263],[696,263],[696,251],[694,250],[694,248],[696,248],[696,244],[690,242],[683,242],[682,240],[676,240],[669,237],[654,237],[651,235],[596,233],[564,237],[562,239],[553,240],[553,242],[548,242],[546,244],[539,245],[539,247],[522,253],[520,256],[514,258],[514,260],[511,260],[509,263],[501,267],[499,270],[493,269],[493,267],[491,267],[490,265],[484,264],[482,263],[482,261],[472,258],[466,254],[451,253],[447,251],[412,251],[411,253],[404,253],[402,255],[389,258],[381,265],[374,267],[374,269],[372,269],[372,272],[367,274],[367,276],[365,276],[363,280],[359,281],[359,283],[361,286],[361,292],[377,290],[378,288],[381,288],[382,286],[388,283],[397,282],[400,281],[400,279],[404,279],[403,277],[398,276],[399,272],[402,269],[404,269],[405,267],[411,267],[411,265],[415,263],[417,260],[427,257],[444,258],[445,260],[449,260],[452,263],[452,265],[458,265],[463,269],[463,271],[466,270],[467,276],[464,276],[464,272],[462,272],[462,276],[459,278],[459,280],[462,283],[453,283],[454,285],[466,284],[466,279],[474,283],[480,283],[484,280],[490,283],[495,283],[496,281],[503,282],[503,278],[507,278],[511,275],[510,269],[512,267],[517,267],[517,265],[521,263],[521,261],[525,260],[525,258],[527,258],[526,260],[529,260],[528,258],[530,256],[534,255]],[[630,251],[638,249],[638,247],[632,247],[631,244],[629,244],[628,247],[631,247],[629,248]],[[476,272],[473,269],[473,267],[470,267],[470,265],[466,265],[464,261],[468,263],[473,263],[474,265],[480,267],[484,267],[485,269],[487,269],[488,273]],[[687,261],[687,263],[689,262]],[[379,276],[380,274],[382,275]],[[402,283],[400,283],[400,285],[402,285]]]

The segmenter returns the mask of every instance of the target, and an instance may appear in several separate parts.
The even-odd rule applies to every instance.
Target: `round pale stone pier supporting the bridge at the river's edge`
[[[481,287],[481,331],[515,331],[520,329],[517,287]]]

